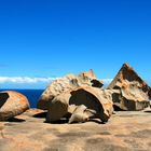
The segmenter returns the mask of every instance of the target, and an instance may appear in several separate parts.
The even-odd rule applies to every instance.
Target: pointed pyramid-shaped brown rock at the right
[[[113,97],[114,107],[122,110],[142,110],[149,106],[150,86],[124,64],[108,88],[120,90]]]

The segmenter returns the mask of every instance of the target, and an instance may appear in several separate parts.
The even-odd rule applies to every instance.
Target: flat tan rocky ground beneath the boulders
[[[151,111],[115,112],[107,124],[45,123],[30,109],[0,122],[0,151],[150,151]]]

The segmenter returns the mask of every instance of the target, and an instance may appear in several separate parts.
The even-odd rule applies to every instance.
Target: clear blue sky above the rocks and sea
[[[0,0],[0,77],[57,78],[128,63],[151,83],[150,0]],[[2,81],[1,87],[44,87]]]

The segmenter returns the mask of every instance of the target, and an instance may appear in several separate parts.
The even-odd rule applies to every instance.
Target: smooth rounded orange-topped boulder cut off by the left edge
[[[0,93],[0,121],[14,118],[29,109],[28,99],[13,91]]]

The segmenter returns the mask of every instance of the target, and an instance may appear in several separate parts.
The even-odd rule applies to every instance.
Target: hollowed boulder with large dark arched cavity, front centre
[[[77,107],[84,105],[86,112],[83,115],[86,115],[83,119],[99,118],[102,122],[107,122],[113,111],[111,94],[110,90],[91,86],[79,86],[73,91],[61,93],[49,104],[46,121],[55,122],[67,114],[71,115]]]

